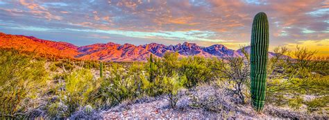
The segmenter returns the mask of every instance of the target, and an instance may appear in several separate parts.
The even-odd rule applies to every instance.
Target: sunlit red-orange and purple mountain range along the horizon
[[[205,58],[230,58],[243,55],[242,49],[235,51],[222,44],[204,47],[195,43],[184,42],[183,44],[169,46],[157,43],[135,46],[133,44],[121,45],[109,42],[107,44],[75,46],[67,42],[53,42],[31,36],[8,35],[5,33],[0,33],[0,48],[14,48],[59,57],[102,61],[143,61],[150,54],[162,57],[166,52],[178,52],[180,57],[199,55]],[[246,46],[244,49],[250,53],[250,46]],[[269,52],[269,57],[273,55],[275,54]]]

